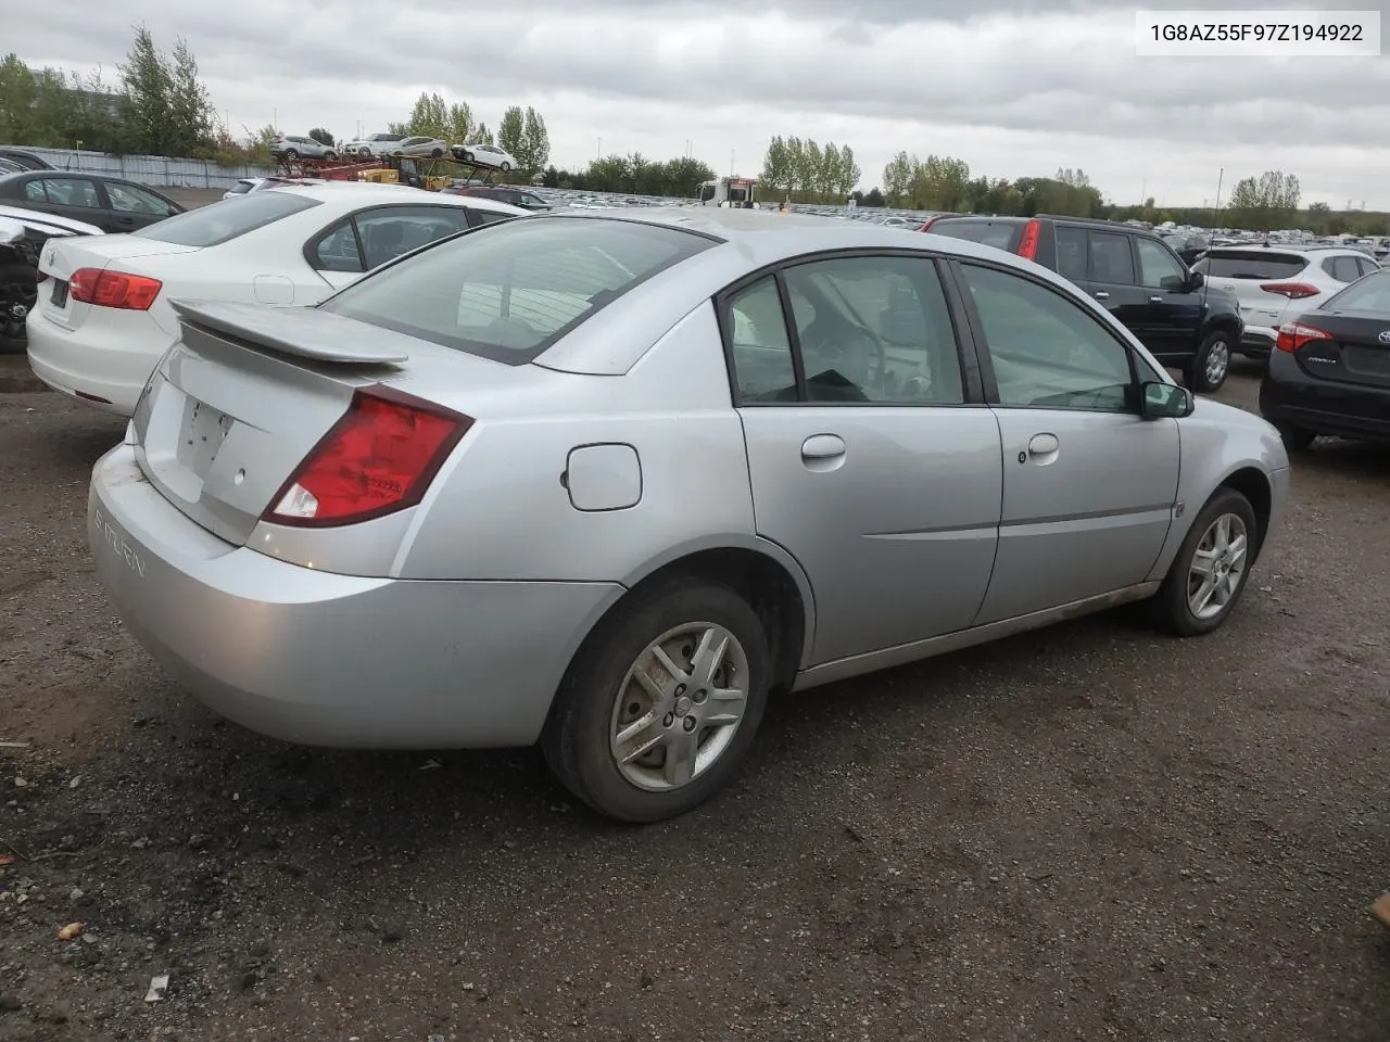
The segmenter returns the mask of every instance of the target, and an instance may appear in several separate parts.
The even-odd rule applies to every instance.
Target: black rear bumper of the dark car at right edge
[[[1269,357],[1259,414],[1316,433],[1390,440],[1390,389],[1309,377],[1287,352]]]

